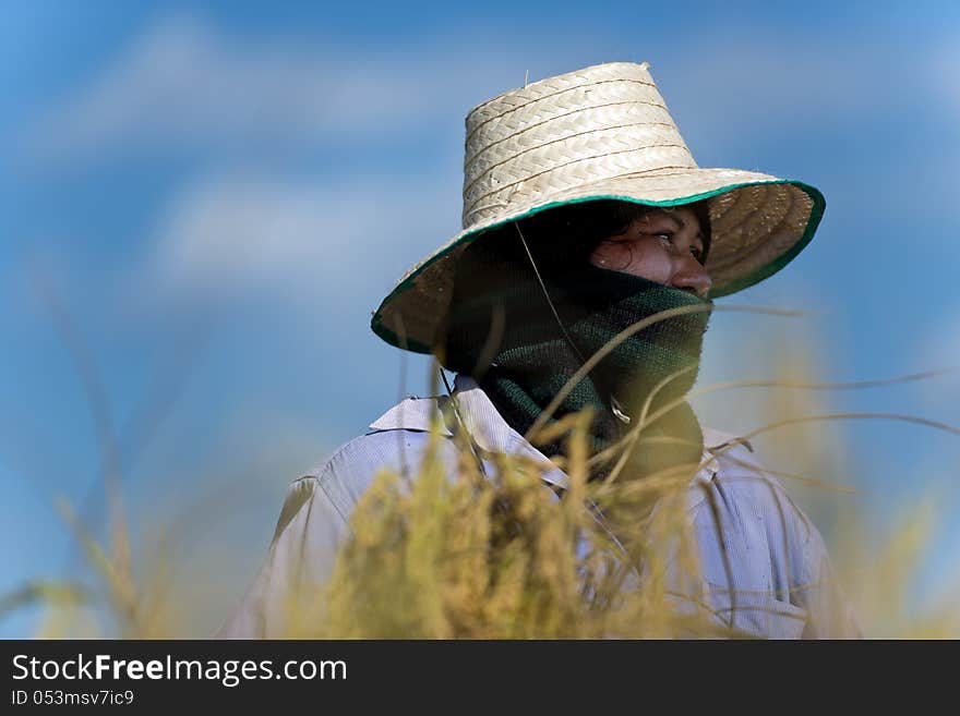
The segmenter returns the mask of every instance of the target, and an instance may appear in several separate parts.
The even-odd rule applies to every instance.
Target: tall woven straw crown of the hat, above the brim
[[[464,228],[578,185],[696,168],[647,63],[541,80],[467,116]]]

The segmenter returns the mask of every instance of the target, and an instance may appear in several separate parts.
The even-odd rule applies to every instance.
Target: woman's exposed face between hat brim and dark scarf
[[[653,207],[623,232],[602,241],[590,263],[706,299],[711,283],[698,260],[703,253],[704,235],[693,209]]]

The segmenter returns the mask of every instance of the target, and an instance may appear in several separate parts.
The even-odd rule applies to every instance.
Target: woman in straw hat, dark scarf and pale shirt
[[[598,451],[641,425],[623,464],[601,462],[593,477],[687,471],[704,596],[722,623],[768,638],[857,635],[819,533],[748,444],[701,427],[683,400],[712,300],[787,265],[823,209],[806,184],[697,167],[646,64],[595,65],[475,108],[465,228],[372,320],[387,342],[457,372],[454,400],[403,401],[293,483],[267,560],[220,634],[281,634],[291,591],[328,578],[377,469],[418,464],[428,430],[455,404],[446,437],[465,430],[481,461],[493,452],[543,461],[557,492],[565,475],[548,458],[560,447],[538,449],[525,435],[586,406]],[[663,311],[669,319],[585,367]],[[453,469],[453,439],[442,457]]]

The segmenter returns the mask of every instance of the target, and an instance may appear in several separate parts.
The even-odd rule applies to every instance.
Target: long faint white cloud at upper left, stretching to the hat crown
[[[503,53],[468,57],[449,40],[427,47],[328,41],[241,41],[192,15],[166,20],[135,39],[89,84],[43,118],[33,156],[100,158],[122,148],[300,146],[392,134],[477,101],[477,68],[521,76]]]

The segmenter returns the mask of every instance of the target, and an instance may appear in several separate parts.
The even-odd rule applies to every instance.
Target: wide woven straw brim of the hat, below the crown
[[[809,184],[739,169],[667,170],[577,186],[550,202],[459,232],[404,275],[373,312],[371,328],[392,345],[431,353],[464,248],[511,221],[593,199],[649,206],[708,199],[711,240],[706,268],[712,280],[711,300],[742,291],[787,266],[813,239],[826,206],[823,194]]]

